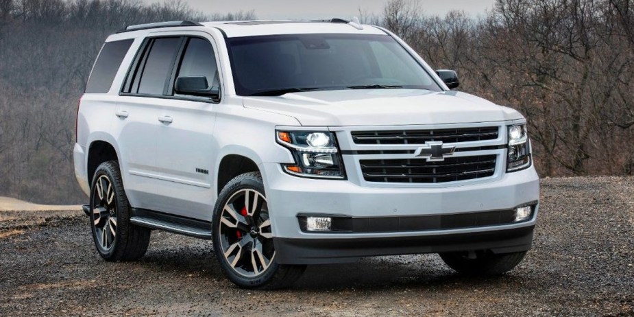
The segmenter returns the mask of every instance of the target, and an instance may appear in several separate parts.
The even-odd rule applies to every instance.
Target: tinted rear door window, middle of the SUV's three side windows
[[[147,55],[138,93],[162,95],[171,75],[181,38],[157,38]]]

